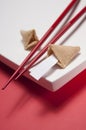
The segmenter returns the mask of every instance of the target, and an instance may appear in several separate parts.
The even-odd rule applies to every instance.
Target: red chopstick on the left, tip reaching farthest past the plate
[[[62,21],[62,19],[66,16],[69,10],[76,4],[77,0],[72,0],[66,9],[62,12],[62,14],[56,19],[56,21],[51,25],[48,31],[44,34],[44,36],[40,39],[38,44],[33,48],[29,55],[24,59],[18,69],[14,72],[14,74],[10,77],[10,79],[6,82],[2,90],[4,90],[8,84],[16,77],[16,75],[20,72],[20,70],[24,67],[27,61],[34,55],[36,50],[43,44],[43,42],[48,38],[48,36],[53,32],[53,30],[57,27],[57,25]]]

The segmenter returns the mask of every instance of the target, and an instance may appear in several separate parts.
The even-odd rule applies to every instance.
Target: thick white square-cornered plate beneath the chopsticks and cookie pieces
[[[35,28],[38,37],[41,38],[69,2],[69,0],[1,0],[0,54],[14,64],[20,65],[29,53],[24,50],[21,43],[20,30]],[[72,17],[84,6],[86,6],[86,0],[81,0]],[[64,70],[54,66],[39,81],[27,75],[27,77],[51,91],[62,87],[86,69],[86,15],[83,15],[56,44],[80,46],[81,51],[80,55]]]

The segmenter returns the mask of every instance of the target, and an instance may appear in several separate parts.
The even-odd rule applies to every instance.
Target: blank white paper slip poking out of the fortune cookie
[[[58,60],[54,55],[49,56],[44,59],[38,65],[30,69],[30,75],[34,77],[36,80],[39,80],[44,74],[46,74],[56,63]]]

